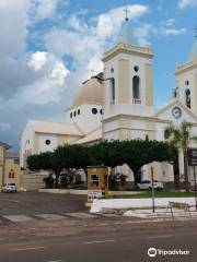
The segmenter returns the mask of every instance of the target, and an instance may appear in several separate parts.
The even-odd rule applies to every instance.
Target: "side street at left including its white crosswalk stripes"
[[[83,195],[38,192],[1,193],[0,224],[36,221],[93,219],[114,215],[94,215],[84,206]]]

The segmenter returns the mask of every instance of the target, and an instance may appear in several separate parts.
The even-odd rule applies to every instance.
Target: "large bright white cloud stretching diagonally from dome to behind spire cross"
[[[71,16],[66,28],[56,27],[46,35],[48,50],[57,56],[67,55],[73,58],[79,83],[91,75],[91,70],[94,70],[94,73],[103,70],[102,55],[107,40],[119,31],[125,19],[124,8],[109,10],[92,19],[91,26],[79,17]],[[128,9],[131,20],[149,11],[148,7],[141,4],[130,4]]]

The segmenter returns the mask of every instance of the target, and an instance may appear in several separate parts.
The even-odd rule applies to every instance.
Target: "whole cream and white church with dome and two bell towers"
[[[66,122],[27,122],[21,139],[21,166],[25,167],[30,154],[54,151],[65,143],[147,136],[163,141],[165,128],[179,126],[184,120],[193,123],[193,132],[197,134],[197,37],[188,60],[175,68],[174,97],[159,109],[153,103],[153,56],[151,47],[138,44],[126,17],[115,45],[103,55],[103,72],[82,83],[66,110]],[[150,179],[151,166],[154,179],[174,181],[174,169],[169,163],[146,165],[142,180]],[[116,169],[134,181],[127,166]],[[179,154],[179,175],[183,174],[184,160]]]

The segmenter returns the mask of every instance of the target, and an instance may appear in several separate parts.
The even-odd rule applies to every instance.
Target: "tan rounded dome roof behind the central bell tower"
[[[83,104],[103,104],[103,85],[100,78],[93,76],[83,82],[76,94],[71,108]]]

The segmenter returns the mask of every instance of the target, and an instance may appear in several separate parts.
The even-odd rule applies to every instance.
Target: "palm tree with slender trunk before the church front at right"
[[[184,178],[185,178],[185,190],[189,191],[188,183],[188,172],[187,172],[187,150],[192,141],[197,142],[197,136],[192,134],[193,124],[186,122],[185,120],[181,123],[179,128],[171,124],[164,130],[164,138],[170,141],[170,143],[176,146],[183,152],[184,155]]]

